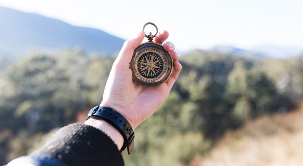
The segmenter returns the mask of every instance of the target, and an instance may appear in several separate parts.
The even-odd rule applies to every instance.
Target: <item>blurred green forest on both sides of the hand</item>
[[[31,153],[54,128],[98,105],[113,61],[81,49],[0,59],[0,165]],[[136,128],[126,165],[188,165],[227,130],[285,114],[303,96],[303,55],[249,61],[196,50],[180,63],[165,103]]]

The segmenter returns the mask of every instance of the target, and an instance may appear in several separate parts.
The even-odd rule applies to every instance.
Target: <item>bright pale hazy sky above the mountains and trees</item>
[[[0,0],[0,6],[98,28],[124,39],[153,22],[184,51],[214,45],[303,48],[302,0]]]

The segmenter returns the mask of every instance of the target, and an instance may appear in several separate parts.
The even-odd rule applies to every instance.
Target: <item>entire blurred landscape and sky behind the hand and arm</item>
[[[0,0],[0,165],[83,122],[123,42],[146,22],[170,33],[182,71],[136,128],[125,165],[302,165],[302,6]]]

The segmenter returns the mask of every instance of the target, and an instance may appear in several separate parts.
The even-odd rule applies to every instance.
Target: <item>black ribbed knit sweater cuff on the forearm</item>
[[[117,145],[101,130],[83,123],[59,129],[32,156],[58,158],[68,166],[122,166]]]

